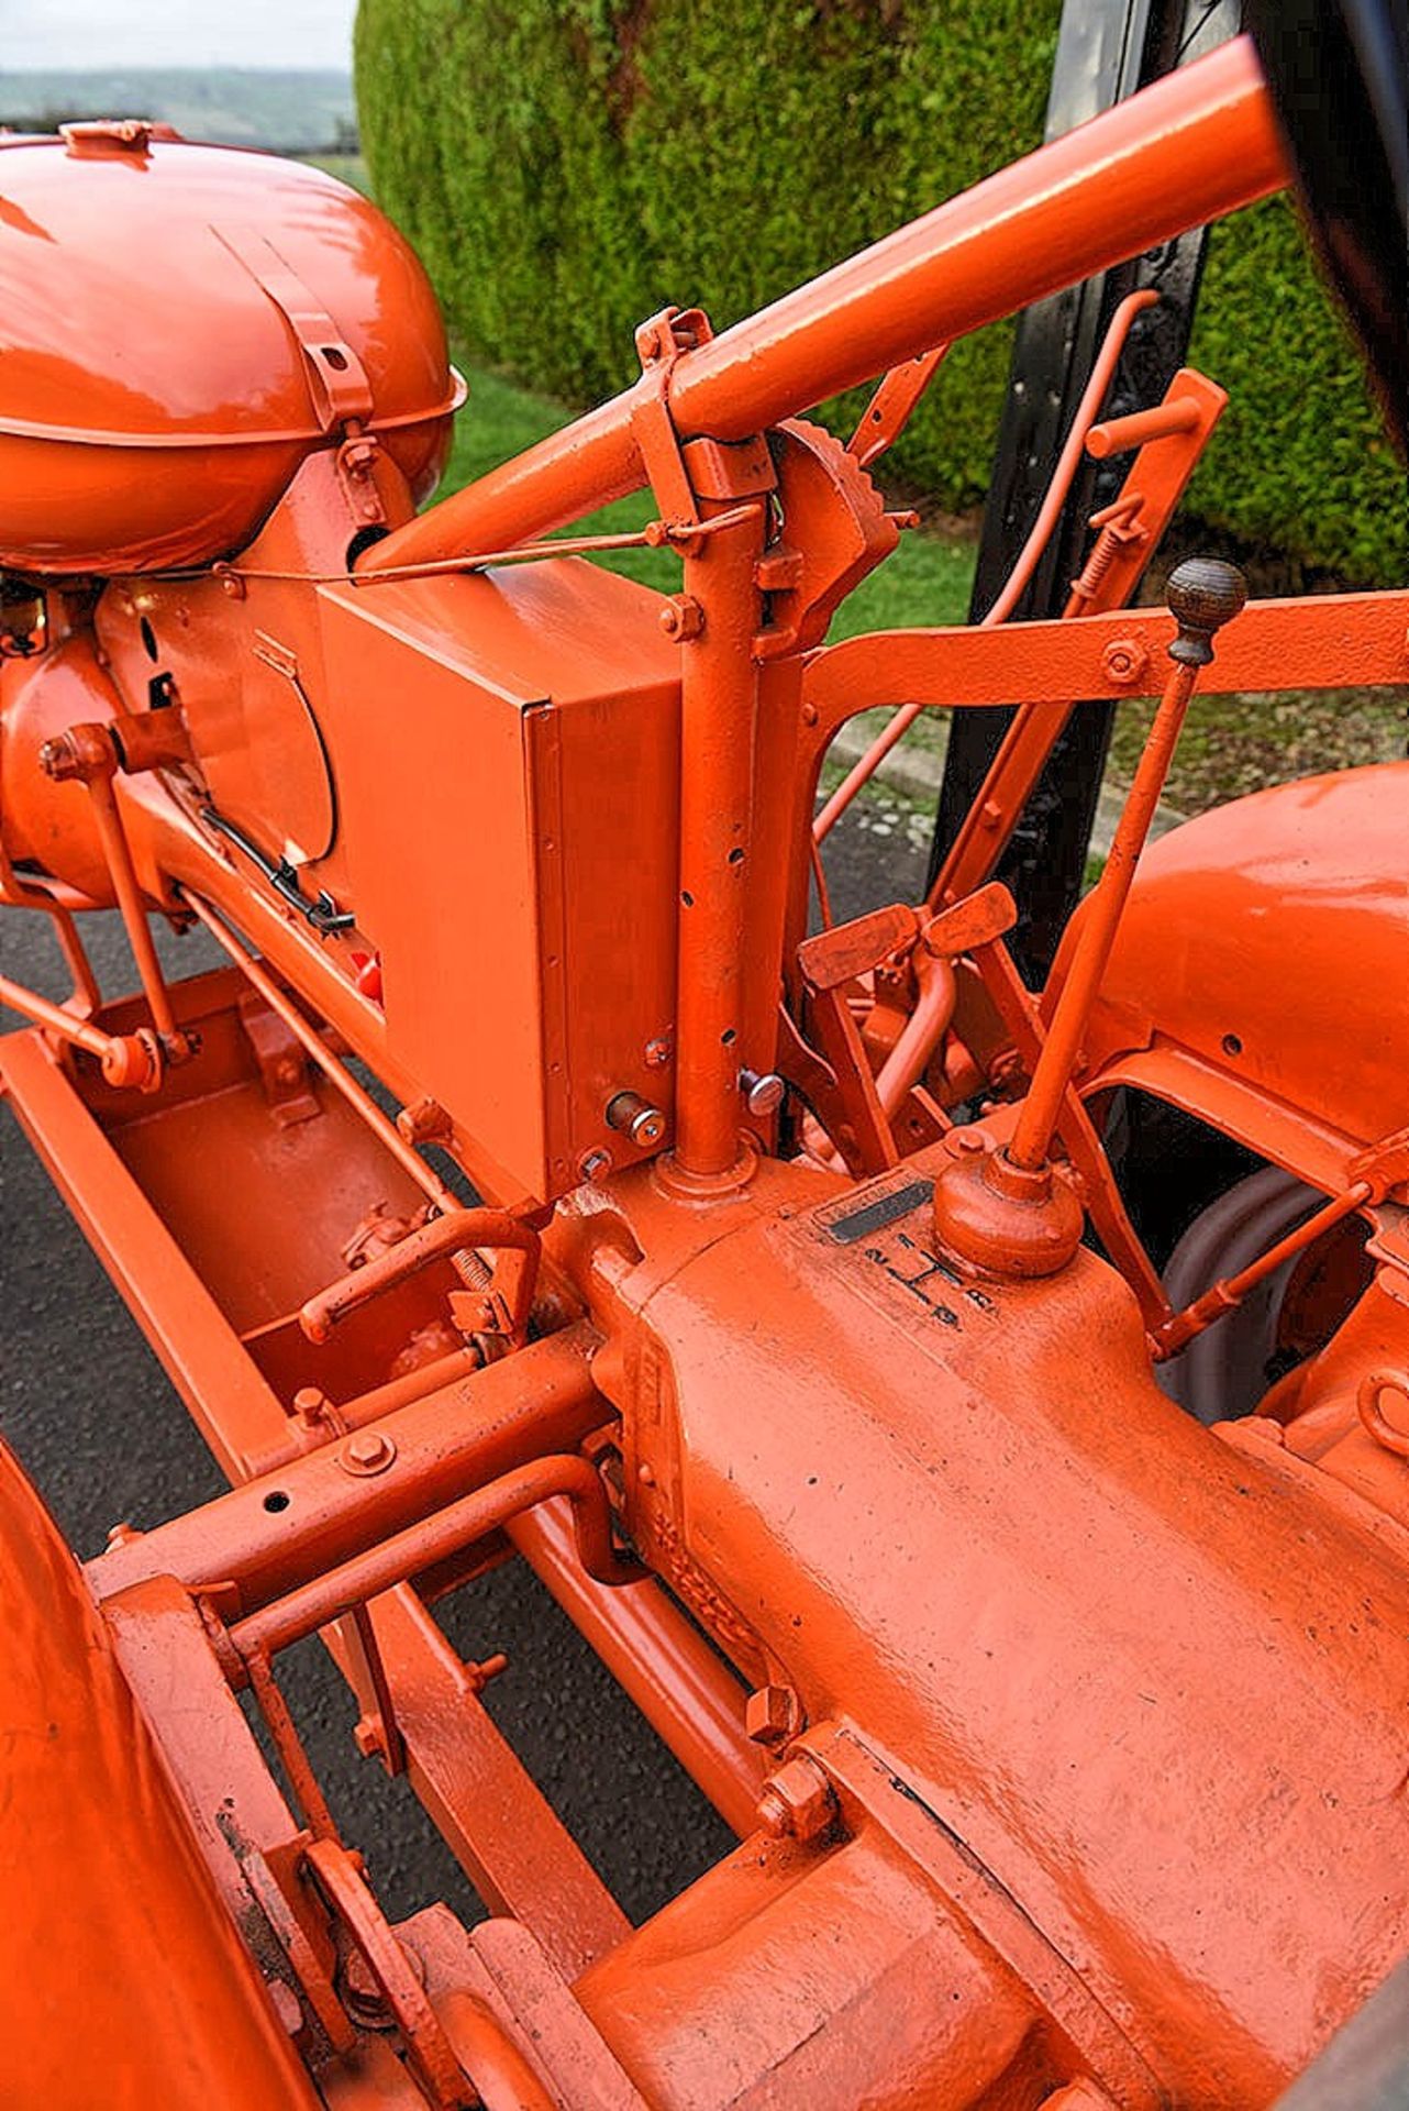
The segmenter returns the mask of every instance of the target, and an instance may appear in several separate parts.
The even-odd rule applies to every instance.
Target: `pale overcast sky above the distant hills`
[[[0,0],[0,74],[352,63],[356,0]]]

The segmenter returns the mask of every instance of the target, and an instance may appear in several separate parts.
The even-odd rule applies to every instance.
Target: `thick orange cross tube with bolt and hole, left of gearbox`
[[[342,1442],[289,1457],[278,1469],[112,1545],[89,1562],[89,1581],[101,1598],[154,1575],[171,1575],[190,1592],[230,1583],[243,1611],[297,1590],[468,1488],[580,1444],[610,1414],[591,1376],[595,1343],[586,1326],[529,1343],[371,1423],[386,1440],[384,1471],[350,1473]]]

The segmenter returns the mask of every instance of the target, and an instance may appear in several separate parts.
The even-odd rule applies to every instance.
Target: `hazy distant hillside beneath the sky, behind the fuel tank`
[[[356,152],[352,78],[253,68],[133,72],[0,72],[0,125],[53,131],[67,118],[162,118],[192,139],[306,154]]]

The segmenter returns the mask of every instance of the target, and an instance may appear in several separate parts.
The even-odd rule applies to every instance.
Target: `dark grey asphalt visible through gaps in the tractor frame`
[[[924,855],[913,817],[884,798],[835,832],[829,849],[839,916],[918,899]],[[135,977],[116,918],[91,918],[105,992]],[[209,965],[202,933],[171,952],[177,973]],[[40,916],[0,914],[4,973],[55,996],[55,948]],[[11,1024],[8,1015],[6,1022]],[[158,1524],[219,1495],[184,1406],[89,1252],[13,1117],[0,1117],[0,1433],[80,1556],[118,1520]],[[513,1564],[439,1609],[468,1657],[506,1651],[487,1691],[500,1729],[610,1883],[645,1919],[732,1845],[732,1834],[624,1699],[538,1581]],[[359,1758],[354,1710],[319,1642],[281,1659],[281,1676],[348,1841],[399,1919],[447,1898],[479,1906],[460,1868],[401,1782]]]

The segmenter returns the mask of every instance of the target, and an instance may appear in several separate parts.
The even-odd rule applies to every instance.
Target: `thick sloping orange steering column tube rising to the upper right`
[[[1234,38],[681,355],[675,431],[745,439],[1285,184],[1257,57]],[[519,543],[637,490],[650,388],[407,521],[359,570]]]

